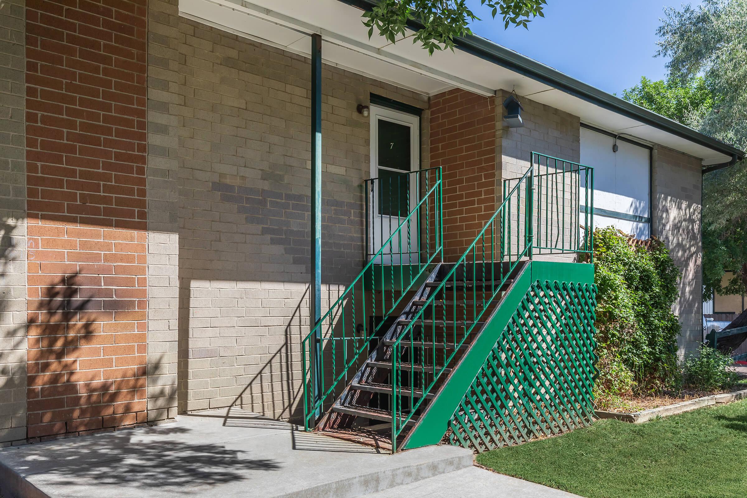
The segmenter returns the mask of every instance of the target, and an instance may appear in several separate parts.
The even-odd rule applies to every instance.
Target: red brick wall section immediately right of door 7
[[[430,103],[430,166],[444,172],[444,257],[456,260],[495,213],[495,98],[449,90]]]

